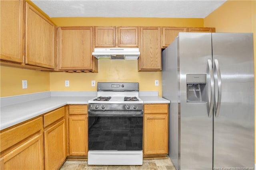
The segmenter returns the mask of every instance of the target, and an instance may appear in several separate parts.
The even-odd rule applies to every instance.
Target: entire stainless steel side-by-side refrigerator
[[[254,169],[252,33],[179,33],[162,52],[177,170]]]

